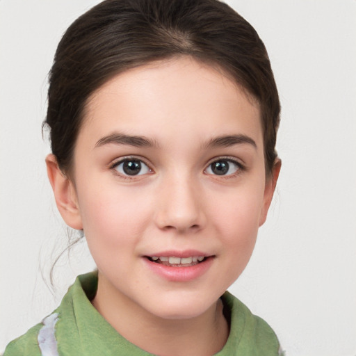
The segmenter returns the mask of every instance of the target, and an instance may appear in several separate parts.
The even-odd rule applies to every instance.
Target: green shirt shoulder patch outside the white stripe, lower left
[[[3,356],[40,356],[41,351],[38,347],[38,332],[40,331],[42,323],[33,327],[26,334],[11,341],[6,346]]]

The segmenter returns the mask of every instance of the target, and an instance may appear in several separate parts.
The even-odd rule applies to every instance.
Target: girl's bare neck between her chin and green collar
[[[99,278],[92,305],[122,337],[149,353],[160,356],[215,355],[227,341],[229,327],[220,299],[202,315],[171,320],[149,313],[129,298],[117,297],[108,293]]]

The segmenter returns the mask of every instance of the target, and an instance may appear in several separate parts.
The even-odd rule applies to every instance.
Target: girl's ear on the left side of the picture
[[[47,175],[54,192],[58,211],[65,223],[73,229],[83,229],[78,199],[72,181],[58,167],[54,154],[46,157]]]

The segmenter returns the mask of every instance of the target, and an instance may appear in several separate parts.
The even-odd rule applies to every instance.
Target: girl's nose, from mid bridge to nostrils
[[[207,218],[202,189],[192,177],[171,176],[158,190],[155,220],[160,229],[184,233],[196,232],[204,227]]]

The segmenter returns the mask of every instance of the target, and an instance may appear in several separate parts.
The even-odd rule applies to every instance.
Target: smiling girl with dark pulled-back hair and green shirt
[[[226,289],[280,172],[264,44],[216,0],[106,0],[49,79],[47,172],[97,264],[10,355],[278,355]]]

